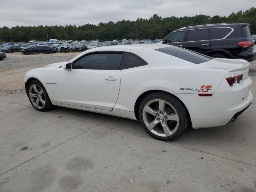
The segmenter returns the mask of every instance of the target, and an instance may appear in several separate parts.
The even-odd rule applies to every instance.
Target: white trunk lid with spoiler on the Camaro
[[[240,71],[249,67],[249,62],[243,59],[213,58],[208,62],[198,64],[203,68],[225,69],[228,71]]]

